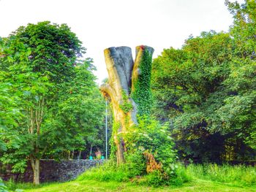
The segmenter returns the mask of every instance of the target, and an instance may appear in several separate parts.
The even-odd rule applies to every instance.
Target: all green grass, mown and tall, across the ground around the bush
[[[67,183],[44,183],[35,187],[29,183],[6,183],[11,190],[24,191],[256,191],[256,168],[254,166],[217,166],[216,164],[178,165],[177,185],[153,188],[145,182],[147,177],[129,179],[127,167],[115,169],[102,166],[85,172],[75,181]],[[181,184],[183,183],[183,184]]]

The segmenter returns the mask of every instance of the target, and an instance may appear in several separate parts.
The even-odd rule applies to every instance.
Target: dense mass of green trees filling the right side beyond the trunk
[[[154,60],[154,115],[171,121],[181,159],[255,159],[256,3],[226,1],[230,33],[203,32]]]

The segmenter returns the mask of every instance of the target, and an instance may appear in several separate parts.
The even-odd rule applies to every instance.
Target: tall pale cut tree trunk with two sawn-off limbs
[[[108,82],[103,84],[100,90],[105,98],[110,99],[113,108],[113,140],[116,145],[117,164],[124,162],[126,149],[122,134],[127,133],[130,126],[138,124],[138,113],[144,114],[144,111],[140,110],[145,108],[143,102],[135,96],[140,85],[150,85],[153,52],[152,47],[138,46],[136,58],[133,61],[130,47],[110,47],[104,50],[109,77]],[[141,78],[144,74],[149,75],[149,79]],[[149,87],[146,89],[143,91],[150,91]]]

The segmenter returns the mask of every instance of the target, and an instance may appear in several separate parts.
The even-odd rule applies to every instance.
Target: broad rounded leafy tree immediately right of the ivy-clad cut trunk
[[[232,47],[229,34],[203,32],[187,39],[181,50],[164,50],[154,60],[155,114],[173,120],[177,147],[189,157],[207,156],[198,146],[200,140],[218,131],[214,111],[222,106],[225,88],[221,84],[230,71]]]

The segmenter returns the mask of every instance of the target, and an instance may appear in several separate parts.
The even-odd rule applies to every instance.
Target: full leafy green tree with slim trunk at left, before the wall
[[[83,53],[85,48],[64,24],[29,24],[5,39],[2,81],[12,85],[8,92],[18,97],[22,118],[1,135],[7,144],[1,161],[22,172],[29,160],[35,184],[40,158],[58,158],[63,150],[83,147],[84,136],[101,122],[94,67],[89,59],[78,60]]]

